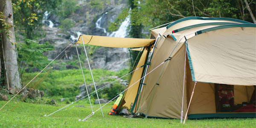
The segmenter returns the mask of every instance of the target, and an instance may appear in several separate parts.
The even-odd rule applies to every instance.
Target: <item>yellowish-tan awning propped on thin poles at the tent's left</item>
[[[76,43],[91,44],[102,47],[144,47],[150,44],[154,39],[137,39],[137,38],[115,38],[115,37],[105,37],[96,35],[80,35]]]

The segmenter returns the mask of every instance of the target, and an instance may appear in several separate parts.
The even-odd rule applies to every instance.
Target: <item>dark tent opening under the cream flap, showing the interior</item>
[[[256,112],[256,86],[227,84],[214,84],[214,86],[216,113]]]

